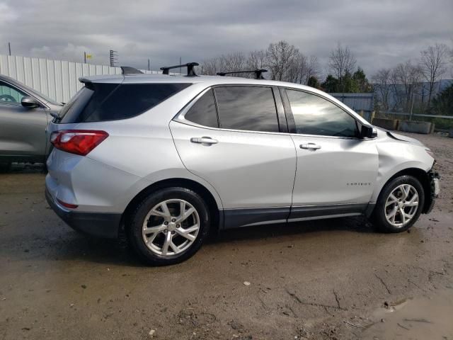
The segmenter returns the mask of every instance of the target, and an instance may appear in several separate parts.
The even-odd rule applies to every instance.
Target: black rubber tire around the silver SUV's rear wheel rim
[[[195,240],[192,244],[190,244],[188,249],[185,249],[178,254],[163,256],[156,254],[156,252],[154,251],[151,251],[151,249],[147,246],[142,234],[142,228],[144,225],[144,220],[151,209],[166,200],[185,200],[187,203],[192,205],[199,217],[199,229]],[[161,218],[162,220],[165,220],[164,217]],[[170,225],[168,225],[168,227],[170,227]],[[207,238],[209,229],[210,212],[205,201],[194,191],[191,191],[187,188],[178,187],[164,188],[151,193],[149,196],[147,196],[137,204],[137,207],[135,207],[130,216],[126,219],[125,223],[126,236],[133,251],[137,254],[137,256],[139,256],[140,259],[142,259],[142,261],[153,266],[166,266],[180,263],[182,261],[185,261],[186,259],[189,259],[198,251],[198,249],[200,249],[202,243]],[[164,234],[164,232],[161,232],[161,235],[158,235],[158,237],[165,238],[166,234]],[[173,231],[173,234],[174,233],[176,232]],[[177,234],[176,237],[180,237],[180,235]],[[163,247],[164,246],[162,246],[162,249]]]

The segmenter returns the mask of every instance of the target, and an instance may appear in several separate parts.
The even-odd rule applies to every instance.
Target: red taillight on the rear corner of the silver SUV
[[[50,142],[62,151],[86,156],[107,137],[108,133],[105,131],[62,130],[52,132]]]

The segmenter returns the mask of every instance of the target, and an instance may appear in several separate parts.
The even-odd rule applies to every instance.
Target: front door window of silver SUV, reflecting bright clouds
[[[355,119],[334,103],[302,91],[286,90],[297,133],[357,137]]]

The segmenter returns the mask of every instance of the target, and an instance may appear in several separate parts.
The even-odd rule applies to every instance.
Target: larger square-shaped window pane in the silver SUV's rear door
[[[277,109],[270,87],[216,87],[220,127],[234,130],[279,132]]]

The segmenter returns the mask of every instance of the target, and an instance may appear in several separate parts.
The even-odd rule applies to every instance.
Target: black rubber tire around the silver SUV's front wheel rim
[[[401,225],[401,227],[396,227],[386,219],[385,205],[386,200],[387,198],[389,198],[389,195],[392,193],[392,191],[394,191],[395,188],[403,184],[409,184],[413,188],[415,188],[415,191],[417,191],[418,207],[411,220],[406,222],[406,224]],[[384,188],[382,188],[382,191],[379,194],[379,198],[377,199],[376,207],[374,208],[371,220],[373,225],[377,227],[379,232],[386,233],[405,232],[407,229],[412,227],[415,222],[417,222],[418,217],[420,217],[420,214],[423,210],[424,204],[425,204],[425,191],[423,190],[423,186],[420,183],[420,181],[418,181],[418,179],[416,179],[413,176],[398,176],[395,179],[389,181],[389,183],[386,183]]]

